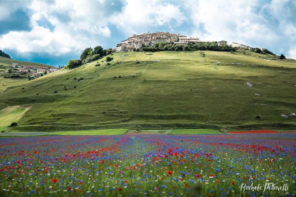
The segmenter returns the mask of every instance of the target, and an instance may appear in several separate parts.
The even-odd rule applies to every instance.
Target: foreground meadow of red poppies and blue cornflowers
[[[296,196],[295,134],[0,138],[0,196]],[[288,185],[242,192],[240,186]]]

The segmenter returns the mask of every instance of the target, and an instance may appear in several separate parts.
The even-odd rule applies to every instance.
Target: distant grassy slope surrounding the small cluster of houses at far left
[[[10,75],[8,74],[8,69],[9,69],[9,66],[12,66],[12,63],[18,63],[19,65],[27,65],[27,66],[47,66],[47,67],[55,68],[54,66],[49,66],[47,64],[41,64],[41,63],[29,62],[29,61],[19,61],[19,60],[14,60],[14,59],[0,56],[0,65],[3,65],[6,67],[5,69],[4,68],[0,69],[0,71],[5,71],[5,73],[0,72],[0,92],[4,91],[7,87],[18,86],[20,84],[28,82],[27,76],[29,74],[25,75],[25,77],[22,77],[22,78],[4,78],[4,75]]]

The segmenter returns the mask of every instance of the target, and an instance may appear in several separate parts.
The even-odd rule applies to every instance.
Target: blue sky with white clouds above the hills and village
[[[86,47],[168,31],[296,56],[295,0],[0,0],[0,49],[52,66]]]

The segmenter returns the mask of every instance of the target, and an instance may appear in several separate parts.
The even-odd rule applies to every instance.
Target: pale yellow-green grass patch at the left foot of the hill
[[[6,129],[12,122],[17,122],[29,108],[20,106],[7,107],[0,110],[0,131]]]

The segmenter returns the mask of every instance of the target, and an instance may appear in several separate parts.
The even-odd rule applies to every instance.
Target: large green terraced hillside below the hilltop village
[[[32,106],[20,126],[10,130],[296,126],[295,116],[281,117],[296,112],[295,61],[248,51],[128,52],[112,57],[109,66],[94,62],[61,70],[0,93],[0,108]]]

